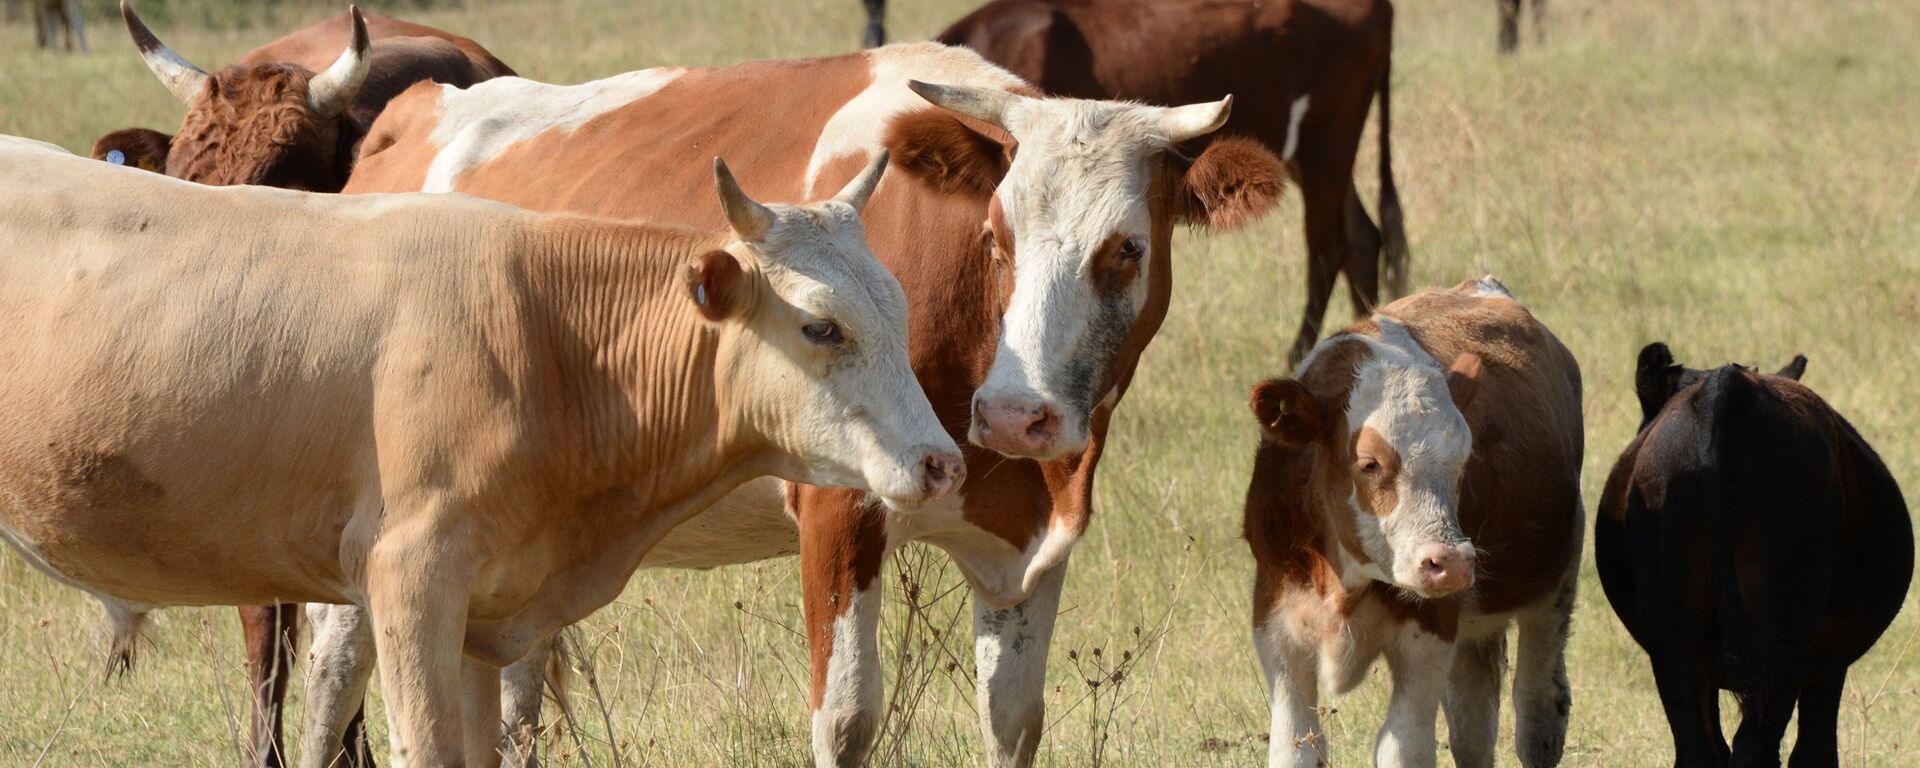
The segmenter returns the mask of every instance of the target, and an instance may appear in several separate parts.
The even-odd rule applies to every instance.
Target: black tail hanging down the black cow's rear
[[[1740,595],[1740,570],[1734,566],[1734,541],[1740,534],[1738,505],[1732,499],[1734,451],[1738,438],[1728,436],[1728,428],[1740,419],[1753,399],[1753,386],[1738,367],[1726,365],[1709,374],[1701,386],[1697,403],[1707,422],[1707,440],[1699,449],[1701,467],[1701,507],[1707,528],[1707,561],[1713,593],[1715,622],[1718,628],[1718,653],[1736,676],[1753,659],[1753,643],[1747,637],[1747,607]]]

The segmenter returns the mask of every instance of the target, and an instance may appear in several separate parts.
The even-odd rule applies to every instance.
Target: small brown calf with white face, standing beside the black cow
[[[1379,766],[1492,766],[1507,626],[1523,766],[1559,762],[1572,703],[1580,367],[1492,278],[1382,307],[1254,388],[1265,440],[1246,492],[1269,764],[1327,764],[1321,685],[1386,657]]]

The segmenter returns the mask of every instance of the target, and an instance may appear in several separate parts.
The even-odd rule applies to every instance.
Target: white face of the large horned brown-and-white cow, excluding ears
[[[1014,290],[973,397],[972,442],[1037,459],[1087,447],[1092,409],[1112,388],[1148,286],[1165,278],[1150,273],[1154,163],[1177,140],[1225,121],[1225,102],[1198,108],[1200,132],[1196,108],[1008,104],[1000,123],[1018,152],[991,225],[1012,244]]]

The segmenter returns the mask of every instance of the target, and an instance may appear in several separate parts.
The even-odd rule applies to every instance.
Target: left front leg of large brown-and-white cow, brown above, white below
[[[814,764],[858,766],[879,737],[883,515],[866,505],[801,511],[801,591],[812,651]]]

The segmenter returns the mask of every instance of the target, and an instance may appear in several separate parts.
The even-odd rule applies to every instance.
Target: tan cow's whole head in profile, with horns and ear
[[[781,476],[922,501],[966,480],[906,357],[906,294],[868,250],[860,207],[885,154],[833,200],[762,205],[714,163],[739,246],[685,271],[687,298],[724,330],[722,394],[795,459]]]

